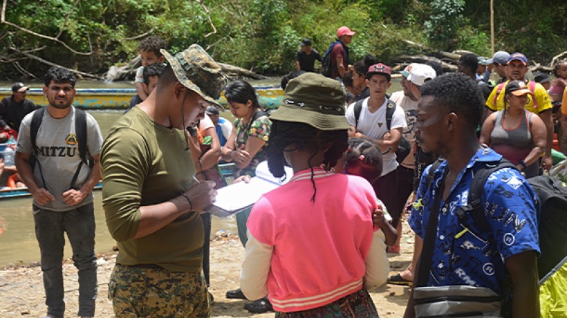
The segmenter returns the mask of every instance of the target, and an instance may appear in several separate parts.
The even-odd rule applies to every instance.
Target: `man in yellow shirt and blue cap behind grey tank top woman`
[[[496,85],[492,90],[492,93],[488,96],[486,100],[486,106],[490,111],[487,115],[494,111],[501,111],[505,108],[504,103],[504,91],[506,85],[510,80],[519,80],[526,83],[528,89],[532,92],[532,95],[528,95],[528,104],[526,104],[526,110],[539,115],[543,124],[546,125],[547,138],[546,138],[546,149],[543,153],[543,160],[541,162],[541,167],[543,169],[549,170],[552,167],[551,159],[551,147],[553,144],[553,118],[552,118],[552,104],[546,88],[543,88],[541,84],[530,81],[526,79],[526,73],[528,73],[528,58],[522,53],[516,52],[510,55],[508,59],[508,81]]]

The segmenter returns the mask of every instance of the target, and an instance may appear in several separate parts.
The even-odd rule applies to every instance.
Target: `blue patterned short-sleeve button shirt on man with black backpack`
[[[529,250],[539,254],[537,196],[516,169],[494,171],[481,195],[494,244],[489,243],[489,236],[478,229],[470,215],[459,222],[455,214],[459,207],[467,205],[475,163],[494,162],[500,158],[499,153],[489,148],[477,151],[457,176],[447,200],[441,200],[428,286],[482,286],[503,294],[506,277],[503,260]],[[416,203],[409,217],[411,229],[421,238],[424,238],[433,198],[438,192],[443,171],[447,169],[447,162],[436,169],[434,182],[426,189],[429,169],[431,166],[422,175]]]

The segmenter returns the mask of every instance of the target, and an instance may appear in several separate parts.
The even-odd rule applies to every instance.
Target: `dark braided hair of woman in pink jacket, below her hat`
[[[301,122],[274,120],[270,131],[270,144],[268,144],[267,149],[268,167],[275,177],[281,178],[286,174],[283,169],[286,164],[286,158],[283,156],[284,149],[293,145],[293,150],[312,153],[308,164],[311,168],[311,183],[313,183],[314,190],[311,200],[315,201],[317,187],[315,187],[315,180],[313,179],[315,171],[311,165],[311,159],[315,157],[317,152],[325,150],[331,144],[331,147],[326,149],[323,158],[326,169],[331,169],[331,167],[337,165],[337,160],[348,148],[347,140],[346,130],[323,131]]]

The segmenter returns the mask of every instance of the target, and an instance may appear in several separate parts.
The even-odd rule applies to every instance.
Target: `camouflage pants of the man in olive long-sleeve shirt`
[[[210,317],[201,273],[116,264],[109,282],[116,317]]]

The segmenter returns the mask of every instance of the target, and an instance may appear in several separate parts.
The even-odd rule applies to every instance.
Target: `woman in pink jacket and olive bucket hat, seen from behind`
[[[283,176],[287,162],[294,176],[252,208],[241,289],[268,294],[276,317],[378,317],[367,290],[386,282],[389,263],[375,194],[330,172],[348,148],[344,98],[335,80],[306,73],[270,116],[270,171]]]

